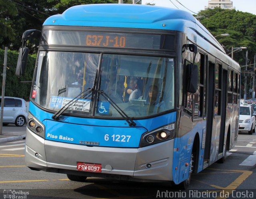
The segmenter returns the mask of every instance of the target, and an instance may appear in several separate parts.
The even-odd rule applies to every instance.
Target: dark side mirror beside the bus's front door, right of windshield
[[[186,92],[195,93],[198,82],[198,66],[188,64],[186,66]]]

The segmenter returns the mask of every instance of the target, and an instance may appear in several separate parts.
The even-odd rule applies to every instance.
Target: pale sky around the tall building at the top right
[[[152,3],[156,4],[156,6],[176,8],[172,4],[172,2],[179,9],[186,10],[188,12],[190,12],[189,10],[191,10],[191,14],[194,14],[193,12],[198,13],[200,10],[204,10],[204,6],[208,6],[208,0],[178,0],[178,2],[180,2],[189,10],[187,10],[181,4],[179,4],[177,0],[142,0],[142,4]],[[232,2],[236,10],[242,12],[250,12],[256,15],[256,0],[232,0]]]

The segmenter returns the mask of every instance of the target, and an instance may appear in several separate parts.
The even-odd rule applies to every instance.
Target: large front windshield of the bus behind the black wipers
[[[121,117],[111,101],[129,117],[162,113],[174,108],[174,58],[39,52],[31,99],[41,107],[58,111],[94,86],[107,98],[82,96],[64,114],[88,117],[96,103],[96,116]]]

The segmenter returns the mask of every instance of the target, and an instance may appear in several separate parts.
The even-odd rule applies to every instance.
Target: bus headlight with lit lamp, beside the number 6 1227
[[[151,132],[143,133],[140,140],[140,147],[172,139],[174,137],[174,129],[175,124],[170,123]]]

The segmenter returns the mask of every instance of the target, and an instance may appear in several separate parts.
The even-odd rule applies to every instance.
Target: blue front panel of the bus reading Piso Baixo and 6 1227
[[[139,147],[141,135],[176,121],[176,112],[150,119],[134,120],[129,127],[125,120],[95,119],[63,116],[53,120],[52,113],[39,109],[30,102],[30,113],[45,125],[45,139],[80,144],[80,141],[97,142],[105,147]]]

